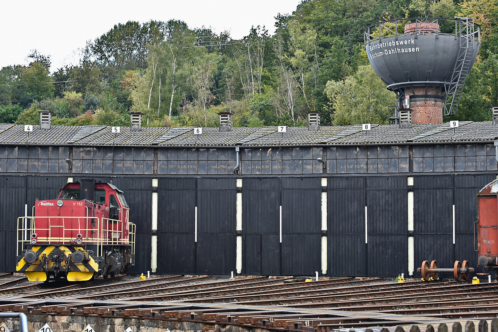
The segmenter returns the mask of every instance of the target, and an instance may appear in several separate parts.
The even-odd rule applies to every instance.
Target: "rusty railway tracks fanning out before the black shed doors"
[[[111,281],[31,289],[28,294],[19,294],[25,286],[12,287],[11,292],[17,293],[3,293],[8,296],[0,299],[0,311],[237,324],[303,332],[498,317],[497,283],[398,284],[379,278],[288,283],[266,277],[218,280],[206,276]]]

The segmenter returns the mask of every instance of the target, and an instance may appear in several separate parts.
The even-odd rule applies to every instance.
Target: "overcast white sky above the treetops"
[[[31,49],[52,57],[51,71],[76,64],[87,40],[128,20],[184,20],[189,27],[228,30],[232,38],[252,25],[274,32],[274,16],[291,13],[300,0],[17,0],[0,4],[0,68],[27,64]]]

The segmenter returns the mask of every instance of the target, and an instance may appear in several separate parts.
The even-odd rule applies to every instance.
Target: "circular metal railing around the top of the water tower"
[[[451,22],[451,25],[449,24]],[[415,24],[413,30],[410,28],[405,32],[406,24]],[[454,23],[454,24],[453,24]],[[451,32],[441,32],[443,30],[452,30]],[[479,24],[474,23],[473,18],[457,17],[444,18],[444,17],[411,17],[391,19],[383,22],[378,22],[367,26],[364,30],[364,43],[370,45],[374,41],[380,41],[382,38],[390,38],[399,36],[414,36],[418,35],[450,35],[455,37],[464,37],[467,39],[477,40],[481,42],[481,27]]]

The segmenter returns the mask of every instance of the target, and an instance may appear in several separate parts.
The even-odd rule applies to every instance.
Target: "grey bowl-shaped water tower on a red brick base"
[[[480,45],[480,26],[468,17],[405,18],[366,27],[370,64],[397,96],[389,122],[441,123],[443,111],[454,115]]]

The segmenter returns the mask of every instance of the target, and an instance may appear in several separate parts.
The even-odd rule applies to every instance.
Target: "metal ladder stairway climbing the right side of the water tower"
[[[465,79],[470,71],[476,40],[474,32],[474,19],[456,17],[455,37],[459,40],[458,57],[452,73],[451,81],[447,85],[446,100],[444,102],[444,115],[455,115],[464,91]],[[464,27],[462,28],[462,22]],[[462,33],[463,32],[463,33]]]

